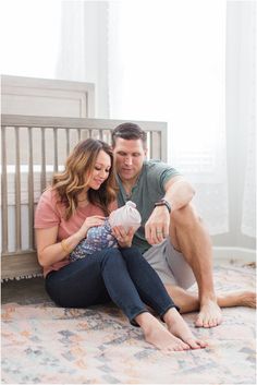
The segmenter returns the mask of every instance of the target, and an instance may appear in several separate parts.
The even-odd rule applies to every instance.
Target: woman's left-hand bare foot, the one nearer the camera
[[[154,315],[148,312],[135,317],[142,327],[147,342],[163,352],[188,350],[189,346],[173,336]]]

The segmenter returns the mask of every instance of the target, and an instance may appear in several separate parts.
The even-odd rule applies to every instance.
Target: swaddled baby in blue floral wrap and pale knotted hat
[[[114,226],[122,225],[125,231],[128,231],[130,227],[137,230],[140,226],[140,220],[136,204],[131,201],[126,202],[124,206],[113,210],[109,218],[105,219],[103,225],[89,228],[87,237],[70,254],[70,260],[74,262],[102,249],[118,248],[117,239],[112,236],[111,229]]]

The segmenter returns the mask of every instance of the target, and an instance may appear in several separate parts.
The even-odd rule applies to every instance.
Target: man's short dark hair
[[[146,148],[147,134],[142,128],[135,123],[122,123],[118,125],[111,133],[112,147],[115,147],[115,141],[118,137],[122,137],[126,141],[142,140],[143,147]]]

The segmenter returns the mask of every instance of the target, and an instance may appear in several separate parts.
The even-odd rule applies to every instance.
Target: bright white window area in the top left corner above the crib
[[[56,77],[61,0],[0,2],[1,73]]]

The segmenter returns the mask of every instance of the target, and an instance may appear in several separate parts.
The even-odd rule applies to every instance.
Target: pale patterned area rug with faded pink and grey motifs
[[[219,267],[219,292],[255,289],[255,269]],[[196,314],[184,316],[194,328]],[[51,302],[2,306],[5,384],[255,384],[255,311],[223,310],[217,328],[194,328],[205,350],[164,356],[114,305],[77,310]]]

